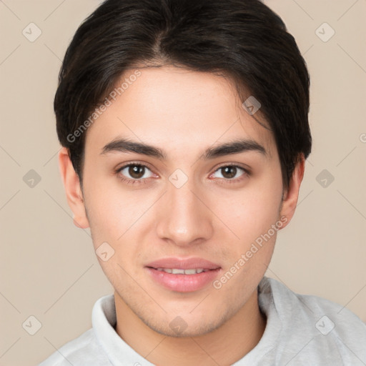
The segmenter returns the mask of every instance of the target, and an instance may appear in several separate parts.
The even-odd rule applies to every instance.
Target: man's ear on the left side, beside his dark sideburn
[[[74,214],[74,224],[76,227],[86,229],[89,221],[86,217],[83,193],[81,191],[79,176],[72,166],[69,152],[63,147],[59,152],[59,169],[62,182],[66,191],[66,199]]]

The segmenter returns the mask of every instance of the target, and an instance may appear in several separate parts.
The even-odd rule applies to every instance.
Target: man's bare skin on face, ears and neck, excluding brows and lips
[[[272,224],[281,217],[287,219],[282,228],[290,222],[305,162],[302,157],[284,191],[274,137],[241,107],[229,79],[174,66],[140,71],[87,131],[82,189],[66,149],[59,153],[74,223],[90,227],[95,249],[103,242],[114,249],[107,262],[98,259],[115,289],[116,331],[125,342],[155,365],[231,365],[264,332],[257,285],[276,234],[219,290],[212,284],[167,290],[144,266],[163,257],[201,257],[219,264],[220,278]],[[255,117],[261,119],[259,112]],[[102,154],[122,137],[159,147],[167,160]],[[237,138],[254,140],[267,153],[202,159],[207,148]],[[131,162],[149,167],[142,184],[132,184],[136,175],[128,168],[116,172]],[[230,178],[219,169],[233,165],[250,173],[237,169]],[[188,177],[180,188],[169,182],[176,169]],[[169,327],[177,316],[187,324],[179,335]]]

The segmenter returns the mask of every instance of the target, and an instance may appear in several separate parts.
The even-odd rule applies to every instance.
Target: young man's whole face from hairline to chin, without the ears
[[[287,221],[280,160],[227,79],[140,71],[87,131],[79,219],[95,249],[114,251],[99,262],[119,301],[159,333],[184,320],[182,335],[202,335],[248,302],[269,264]]]

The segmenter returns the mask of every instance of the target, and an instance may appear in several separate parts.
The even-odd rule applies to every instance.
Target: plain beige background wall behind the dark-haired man
[[[366,321],[366,1],[265,2],[309,66],[314,139],[297,213],[279,234],[267,274]],[[1,366],[37,365],[89,329],[94,302],[112,293],[89,232],[72,224],[52,109],[66,46],[98,4],[0,0]],[[22,34],[31,22],[42,32],[33,42]],[[335,30],[326,42],[317,36],[330,35],[324,22]],[[32,188],[23,180],[30,169],[41,177]],[[327,187],[317,182],[323,169],[334,177]],[[31,315],[41,323],[33,336],[22,327]]]

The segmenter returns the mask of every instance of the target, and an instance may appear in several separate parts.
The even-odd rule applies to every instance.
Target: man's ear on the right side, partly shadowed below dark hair
[[[280,217],[287,217],[287,222],[282,225],[282,229],[287,226],[287,224],[291,221],[292,216],[295,214],[297,199],[299,198],[300,184],[302,182],[302,178],[304,177],[304,171],[305,157],[304,154],[300,154],[299,160],[295,165],[294,172],[292,173],[289,187],[284,192],[284,197],[282,199]]]

